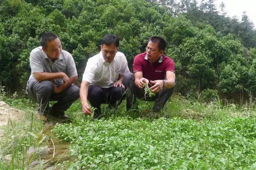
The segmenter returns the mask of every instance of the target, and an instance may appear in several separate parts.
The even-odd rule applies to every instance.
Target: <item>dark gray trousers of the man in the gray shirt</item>
[[[52,106],[52,113],[63,115],[76,99],[79,98],[79,87],[70,85],[67,89],[60,93],[54,93],[54,87],[51,81],[45,80],[38,82],[36,80],[28,80],[27,92],[28,96],[38,102],[38,114],[47,115],[49,111],[49,101],[57,101]]]

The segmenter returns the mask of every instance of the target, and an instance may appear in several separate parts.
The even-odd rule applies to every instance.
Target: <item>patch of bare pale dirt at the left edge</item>
[[[0,101],[0,137],[3,136],[3,128],[7,125],[9,119],[11,121],[19,121],[24,115],[25,113],[23,111],[14,109],[3,101]]]

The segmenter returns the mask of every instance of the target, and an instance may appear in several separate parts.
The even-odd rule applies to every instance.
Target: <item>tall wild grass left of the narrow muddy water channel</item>
[[[5,102],[21,109],[25,115],[19,121],[9,119],[6,127],[0,127],[0,169],[31,168],[30,164],[34,160],[38,160],[39,169],[44,167],[36,152],[28,152],[30,146],[42,146],[45,139],[42,134],[43,124],[35,119],[35,103],[27,99],[7,99]]]

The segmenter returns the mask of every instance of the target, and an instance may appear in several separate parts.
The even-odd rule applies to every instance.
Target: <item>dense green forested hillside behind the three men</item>
[[[0,86],[9,96],[25,89],[30,51],[44,32],[60,36],[79,82],[105,34],[119,36],[131,71],[148,38],[161,36],[175,62],[177,93],[242,103],[256,92],[256,30],[246,12],[240,21],[226,16],[224,3],[220,9],[214,0],[1,0]]]

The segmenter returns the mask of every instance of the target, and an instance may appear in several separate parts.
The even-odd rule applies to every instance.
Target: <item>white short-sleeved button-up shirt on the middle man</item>
[[[118,80],[119,75],[129,72],[127,60],[123,53],[118,51],[114,60],[108,63],[104,60],[100,51],[100,53],[88,59],[82,81],[87,81],[90,85],[109,88]]]

